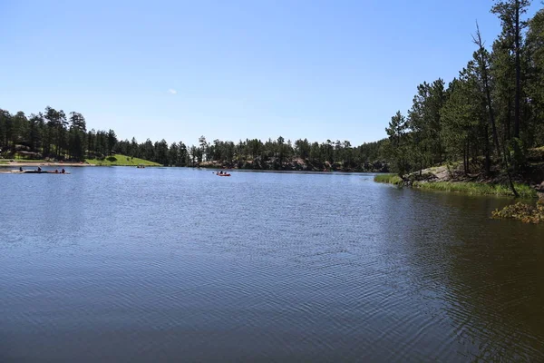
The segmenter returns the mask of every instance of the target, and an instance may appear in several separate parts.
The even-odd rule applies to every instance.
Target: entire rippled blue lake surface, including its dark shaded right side
[[[544,361],[544,227],[370,174],[0,174],[0,361]]]

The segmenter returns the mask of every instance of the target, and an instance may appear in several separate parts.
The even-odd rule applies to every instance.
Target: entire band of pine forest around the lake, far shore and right
[[[486,45],[487,34],[475,26],[467,39],[474,52],[459,75],[448,84],[439,78],[418,85],[411,109],[395,113],[385,129],[388,138],[378,142],[354,147],[278,137],[235,143],[204,136],[191,146],[119,141],[112,130],[88,131],[81,113],[46,107],[28,116],[0,110],[0,156],[79,161],[118,152],[175,166],[373,172],[390,167],[401,176],[462,161],[465,174],[531,172],[544,162],[534,152],[544,145],[544,10],[529,18],[529,0],[490,5],[500,34]]]

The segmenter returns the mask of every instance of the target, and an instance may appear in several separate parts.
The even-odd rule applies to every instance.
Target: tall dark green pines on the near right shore
[[[544,9],[525,19],[529,5],[495,1],[501,32],[490,49],[476,24],[458,76],[423,82],[412,108],[393,115],[384,149],[399,175],[461,160],[466,174],[527,171],[529,149],[544,144]]]

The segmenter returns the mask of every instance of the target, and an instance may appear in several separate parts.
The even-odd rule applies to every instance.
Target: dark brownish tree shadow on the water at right
[[[452,341],[442,347],[452,351],[446,356],[543,360],[542,226],[491,220],[491,211],[511,202],[504,198],[391,193],[383,208],[396,222],[384,234],[403,250],[422,314],[434,322],[447,317],[441,324],[451,327]]]

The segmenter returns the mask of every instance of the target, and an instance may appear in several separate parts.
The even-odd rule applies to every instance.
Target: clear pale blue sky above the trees
[[[139,142],[372,142],[417,84],[457,75],[476,20],[492,43],[491,5],[0,0],[0,108],[77,111]]]

